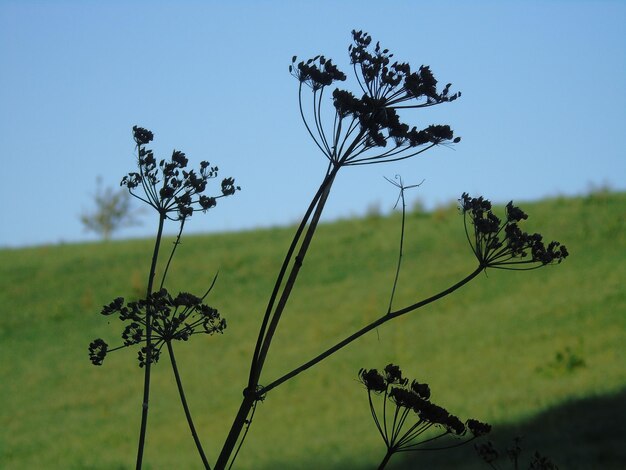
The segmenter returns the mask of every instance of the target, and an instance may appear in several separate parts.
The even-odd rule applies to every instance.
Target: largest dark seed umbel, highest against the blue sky
[[[403,160],[435,145],[458,143],[459,137],[448,125],[430,125],[423,129],[404,123],[398,110],[416,109],[454,101],[461,93],[451,93],[451,84],[437,90],[437,80],[428,66],[412,70],[402,62],[391,62],[393,54],[380,43],[372,48],[372,38],[362,31],[352,31],[349,47],[358,88],[355,96],[348,90],[332,91],[334,111],[323,119],[322,98],[326,88],[346,75],[330,59],[316,56],[289,66],[300,82],[300,112],[309,134],[336,166],[366,165]],[[309,117],[303,108],[302,85],[313,92]],[[328,124],[332,123],[330,127]]]

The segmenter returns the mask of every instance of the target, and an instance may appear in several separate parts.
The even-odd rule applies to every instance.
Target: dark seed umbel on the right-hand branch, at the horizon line
[[[492,212],[491,202],[482,196],[463,193],[459,202],[467,240],[483,268],[536,269],[558,264],[569,256],[565,245],[552,241],[546,246],[540,234],[523,232],[519,223],[528,215],[512,201],[506,205],[504,220]],[[468,227],[468,218],[473,230]]]

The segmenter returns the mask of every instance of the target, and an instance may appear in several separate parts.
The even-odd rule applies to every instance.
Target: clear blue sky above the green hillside
[[[322,53],[348,72],[354,28],[463,92],[407,117],[463,140],[345,168],[327,218],[391,208],[397,173],[425,179],[409,198],[427,206],[626,189],[626,2],[0,0],[0,246],[94,240],[79,214],[98,175],[134,170],[134,124],[157,156],[180,149],[242,186],[191,232],[296,221],[326,161],[287,67]]]

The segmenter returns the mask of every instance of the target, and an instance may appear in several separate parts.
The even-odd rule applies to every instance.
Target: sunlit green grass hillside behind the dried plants
[[[429,383],[435,403],[490,422],[500,448],[520,435],[524,455],[539,450],[561,469],[625,468],[626,193],[522,208],[525,228],[563,242],[570,258],[532,272],[489,271],[272,391],[236,466],[376,468],[385,449],[356,378],[361,367],[393,362]],[[399,223],[396,213],[320,227],[262,383],[386,311]],[[211,461],[239,405],[292,232],[184,237],[171,268],[170,291],[200,293],[220,273],[208,300],[226,317],[225,334],[176,348]],[[397,307],[475,267],[453,207],[409,214],[405,243]],[[98,313],[117,296],[140,295],[151,250],[151,240],[0,250],[0,468],[134,468],[143,381],[136,349],[94,367],[87,345],[121,342],[122,323]],[[166,357],[153,374],[145,468],[201,468]],[[388,468],[488,467],[469,445],[403,454]]]

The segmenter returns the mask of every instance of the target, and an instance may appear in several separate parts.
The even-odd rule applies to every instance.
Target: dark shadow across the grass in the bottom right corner
[[[495,425],[488,439],[500,452],[498,468],[512,469],[505,450],[522,437],[520,469],[527,469],[535,451],[561,470],[626,468],[626,390],[615,395],[565,403],[528,420]],[[474,442],[485,442],[483,440]],[[504,454],[504,455],[503,455]],[[396,455],[387,468],[489,469],[473,443],[450,451]]]

